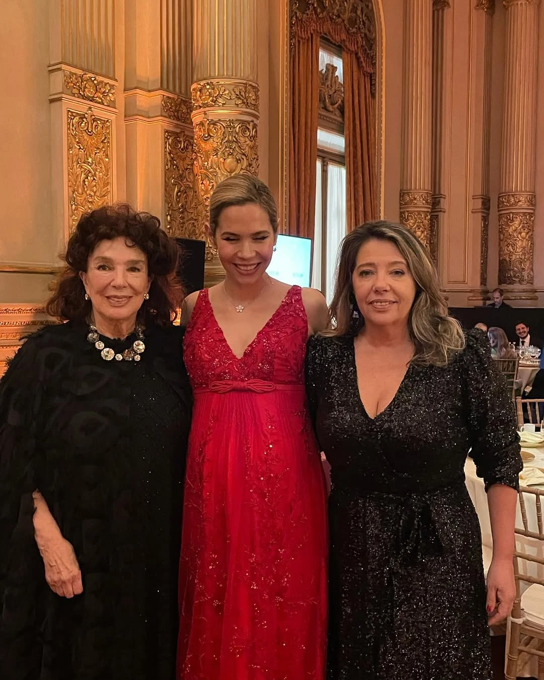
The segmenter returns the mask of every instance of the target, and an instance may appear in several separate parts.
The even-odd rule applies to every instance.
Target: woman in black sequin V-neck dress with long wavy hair
[[[447,317],[428,254],[387,222],[345,238],[331,316],[307,353],[333,483],[328,679],[489,680],[522,462],[488,340]],[[469,449],[494,537],[487,598]]]

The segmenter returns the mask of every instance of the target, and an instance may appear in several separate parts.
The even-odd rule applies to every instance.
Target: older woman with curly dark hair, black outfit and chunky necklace
[[[3,680],[170,680],[190,391],[177,245],[128,205],[82,216],[0,383]]]

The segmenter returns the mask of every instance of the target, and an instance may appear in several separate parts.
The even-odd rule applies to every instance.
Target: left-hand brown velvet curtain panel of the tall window
[[[288,233],[313,239],[318,158],[319,35],[296,39],[291,57]]]

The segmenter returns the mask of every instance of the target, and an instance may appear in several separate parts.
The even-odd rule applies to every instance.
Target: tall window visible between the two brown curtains
[[[341,49],[322,40],[311,285],[322,291],[328,303],[333,299],[337,254],[346,233],[342,83]]]

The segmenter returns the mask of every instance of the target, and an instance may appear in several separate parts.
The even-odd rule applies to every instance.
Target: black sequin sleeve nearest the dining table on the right
[[[519,488],[523,469],[515,407],[506,381],[491,358],[486,337],[466,334],[461,360],[464,368],[467,412],[471,432],[471,457],[486,490],[492,484]]]

